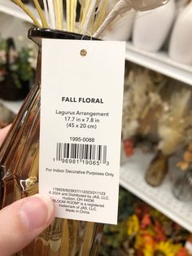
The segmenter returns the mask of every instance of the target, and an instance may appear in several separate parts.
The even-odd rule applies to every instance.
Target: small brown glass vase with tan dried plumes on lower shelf
[[[191,91],[181,90],[170,95],[168,109],[162,113],[158,121],[158,135],[160,152],[151,162],[146,172],[146,181],[152,186],[163,182],[168,172],[168,157],[180,148],[184,148],[190,141],[192,130]]]

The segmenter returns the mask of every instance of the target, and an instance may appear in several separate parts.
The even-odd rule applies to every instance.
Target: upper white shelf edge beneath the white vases
[[[168,77],[175,78],[192,86],[192,66],[179,64],[168,58],[164,51],[150,53],[137,49],[131,42],[127,42],[126,60],[150,68]]]

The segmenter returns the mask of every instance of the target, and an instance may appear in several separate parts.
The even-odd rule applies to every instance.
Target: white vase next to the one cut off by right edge
[[[145,51],[159,51],[172,28],[175,0],[154,11],[137,12],[133,25],[133,45]]]

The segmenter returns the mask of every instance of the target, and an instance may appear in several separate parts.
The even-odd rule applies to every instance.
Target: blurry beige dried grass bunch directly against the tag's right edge
[[[127,68],[124,80],[123,139],[134,135],[151,135],[151,122],[157,122],[160,113],[167,108],[159,95],[167,79],[150,69],[132,64]],[[155,114],[154,114],[155,113]],[[157,134],[157,127],[156,131]]]

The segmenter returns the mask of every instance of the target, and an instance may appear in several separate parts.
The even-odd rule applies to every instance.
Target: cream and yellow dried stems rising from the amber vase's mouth
[[[33,0],[40,20],[22,0],[11,2],[23,9],[37,27],[64,29],[101,38],[103,32],[119,15],[124,15],[132,8],[137,11],[152,10],[164,5],[168,0],[43,0],[44,8],[41,8],[38,0]],[[63,11],[63,5],[66,11]]]

